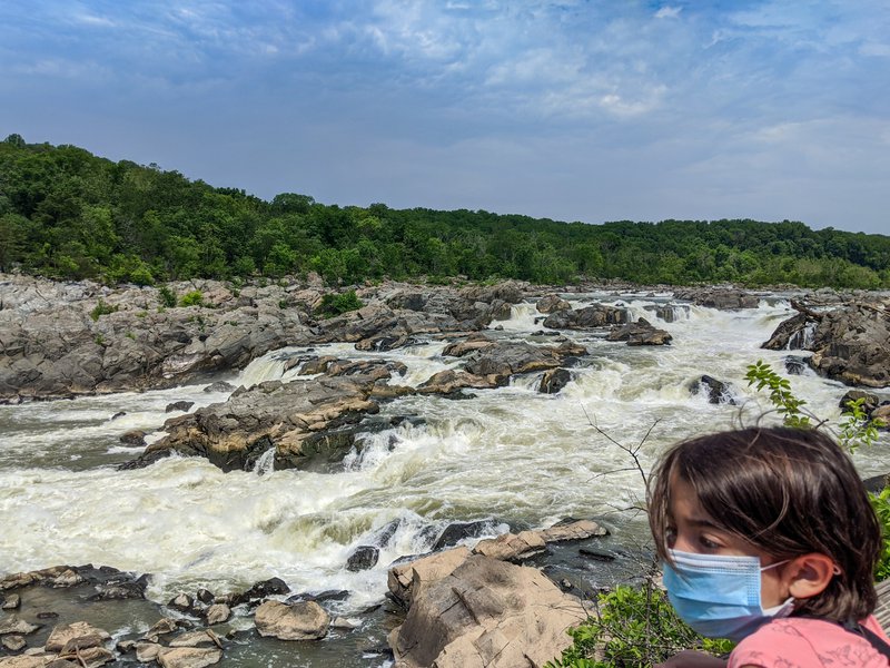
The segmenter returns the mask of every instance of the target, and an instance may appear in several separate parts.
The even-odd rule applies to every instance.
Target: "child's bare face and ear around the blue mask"
[[[719,529],[699,503],[695,492],[686,481],[671,478],[668,547],[698,554],[729,554],[760,558],[761,568],[778,561],[751,543]],[[772,608],[789,598],[788,586],[781,578],[782,567],[761,572],[761,606]]]

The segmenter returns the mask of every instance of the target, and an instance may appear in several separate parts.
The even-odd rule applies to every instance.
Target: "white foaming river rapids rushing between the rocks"
[[[645,523],[623,509],[642,498],[640,472],[591,423],[625,446],[649,434],[640,449],[646,470],[675,440],[752,423],[767,403],[746,386],[745,367],[763,358],[784,374],[782,360],[789,353],[763,351],[760,344],[793,312],[781,296],[772,296],[759,308],[739,312],[684,306],[669,323],[646,308],[669,302],[669,294],[566,296],[575,307],[593,301],[625,305],[634,317],[668,330],[673,343],[630,347],[606,342],[602,333],[567,333],[591,355],[560,394],[537,393],[540,375],[533,374],[507,387],[474,391],[476,397],[467,401],[399,399],[384,404],[382,415],[412,420],[369,435],[360,450],[329,470],[275,471],[265,461],[255,471],[222,473],[189,458],[115,470],[141,451],[122,445],[121,433],[157,432],[179,414],[165,413],[175,401],[194,401],[195,410],[226,399],[227,393],[205,392],[205,385],[0,406],[0,574],[59,563],[108,564],[151,573],[147,593],[160,602],[179,591],[206,587],[224,593],[277,576],[294,591],[348,590],[342,603],[348,613],[380,602],[387,564],[428,550],[435,530],[453,521],[491,520],[495,533],[565,517],[594,518],[612,530],[610,544],[639,543]],[[518,304],[511,320],[500,323],[503,330],[491,334],[551,343],[552,337],[537,334],[535,316],[534,305]],[[350,344],[314,351],[400,361],[407,372],[393,382],[415,385],[459,364],[442,357],[443,347],[431,341],[390,353],[360,353]],[[281,379],[280,357],[291,352],[300,351],[270,353],[221,380],[238,385]],[[704,393],[692,395],[689,384],[702,374],[732,383],[741,405],[710,404]],[[809,371],[791,377],[809,409],[837,421],[844,386]],[[890,470],[888,444],[884,433],[878,444],[856,454],[863,477]],[[350,551],[393,520],[399,520],[398,529],[378,564],[346,570]],[[374,619],[364,622],[359,636],[379,645],[385,629]],[[121,620],[117,630],[134,623]],[[338,651],[352,652],[354,660],[339,658],[340,665],[383,662],[363,656],[355,642],[344,641],[344,633],[316,648],[266,644],[253,654],[227,652],[225,661],[333,665],[326,642],[340,642],[348,649]]]

